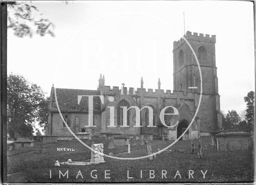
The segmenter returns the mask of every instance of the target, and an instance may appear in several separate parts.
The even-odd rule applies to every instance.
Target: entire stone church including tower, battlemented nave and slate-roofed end
[[[184,38],[190,43],[197,55],[202,73],[202,97],[200,99],[200,72],[196,58],[186,43],[181,38],[173,43],[173,84],[174,90],[162,90],[161,82],[158,79],[158,89],[146,89],[143,86],[143,79],[140,80],[140,88],[127,88],[105,86],[105,78],[100,75],[97,90],[78,90],[56,88],[58,106],[68,127],[75,134],[86,133],[88,130],[94,137],[101,133],[119,133],[126,136],[139,136],[141,134],[152,134],[154,139],[177,139],[188,131],[180,139],[194,139],[208,136],[210,131],[222,129],[222,117],[220,114],[220,95],[218,94],[218,78],[215,61],[216,36],[186,32]],[[157,81],[156,81],[157,83]],[[88,127],[88,97],[83,96],[78,104],[79,95],[102,95],[93,98],[93,127]],[[111,99],[111,101],[110,101]],[[113,100],[113,101],[112,101]],[[127,112],[127,125],[124,124],[123,111],[121,107],[137,106],[140,111],[140,126],[136,125],[136,112],[131,108]],[[149,127],[149,111],[144,106],[153,109],[153,125]],[[164,115],[164,126],[160,121],[160,112],[166,106],[173,106],[178,110],[178,115]],[[109,107],[114,107],[114,125],[110,125]],[[198,108],[194,120],[194,114]],[[165,113],[174,113],[169,107]],[[193,121],[192,121],[193,120]],[[96,127],[95,127],[96,126]],[[58,138],[74,138],[64,124],[55,101],[54,87],[50,95],[50,109],[46,135],[58,135]]]

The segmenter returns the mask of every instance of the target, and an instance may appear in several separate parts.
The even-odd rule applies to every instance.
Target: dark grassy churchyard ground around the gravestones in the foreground
[[[203,145],[208,145],[206,155],[198,159],[197,153],[191,154],[191,140],[178,141],[174,146],[158,155],[152,161],[148,159],[138,160],[118,160],[104,157],[106,163],[86,166],[61,165],[54,167],[56,160],[60,162],[72,159],[72,161],[86,161],[90,159],[90,150],[78,143],[68,143],[66,148],[73,148],[75,151],[57,151],[57,147],[49,148],[48,153],[33,154],[26,153],[8,157],[8,182],[238,182],[253,180],[253,153],[252,151],[216,151],[210,144],[211,139],[202,138]],[[87,141],[88,145],[91,141]],[[97,142],[96,142],[97,143]],[[115,149],[108,150],[106,141],[98,141],[104,144],[104,153],[113,152],[116,157],[138,157],[146,155],[146,145],[131,146],[130,153],[127,146],[115,146]],[[171,141],[150,141],[152,152],[158,148],[162,149],[168,146]],[[198,148],[198,139],[194,139],[195,151]],[[121,153],[121,154],[117,154]],[[51,170],[51,179],[50,179]],[[69,178],[59,178],[59,170],[64,174],[68,170]],[[79,175],[81,171],[83,178]],[[90,176],[91,171],[97,174],[97,179]],[[110,179],[105,179],[105,170],[110,170],[107,175]],[[129,177],[127,178],[127,170]],[[142,170],[142,178],[140,171]],[[154,170],[155,177],[150,179],[149,171]],[[166,170],[167,178],[162,178],[162,170]],[[179,170],[180,176],[176,175]],[[193,178],[188,178],[188,170],[193,170]],[[205,178],[201,173],[202,170],[207,173]],[[17,173],[18,172],[18,173]]]

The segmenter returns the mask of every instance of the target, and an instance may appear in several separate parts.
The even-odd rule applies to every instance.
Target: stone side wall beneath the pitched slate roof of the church
[[[74,133],[81,132],[82,128],[92,130],[92,135],[100,135],[101,131],[101,114],[94,113],[94,124],[96,127],[85,127],[88,125],[88,113],[63,113],[62,115],[70,116],[70,129]],[[62,118],[58,112],[52,113],[52,135],[72,136],[67,127],[63,125]]]

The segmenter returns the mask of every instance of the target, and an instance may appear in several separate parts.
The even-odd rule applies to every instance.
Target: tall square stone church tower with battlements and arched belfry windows
[[[216,36],[186,32],[184,36],[192,46],[202,72],[202,101],[198,110],[201,135],[222,129],[220,95],[215,61]],[[173,46],[174,90],[194,94],[195,108],[200,97],[200,73],[196,58],[186,41],[181,38]],[[196,87],[189,88],[189,87]],[[212,124],[215,123],[215,124]]]

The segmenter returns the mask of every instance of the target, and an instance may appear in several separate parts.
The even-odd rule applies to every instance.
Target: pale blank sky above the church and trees
[[[30,3],[30,2],[28,2]],[[8,73],[50,95],[56,88],[105,85],[173,90],[173,42],[185,31],[216,35],[220,109],[246,109],[254,90],[253,3],[244,1],[36,1],[55,37],[18,38],[8,30]],[[185,26],[184,14],[185,12]]]

